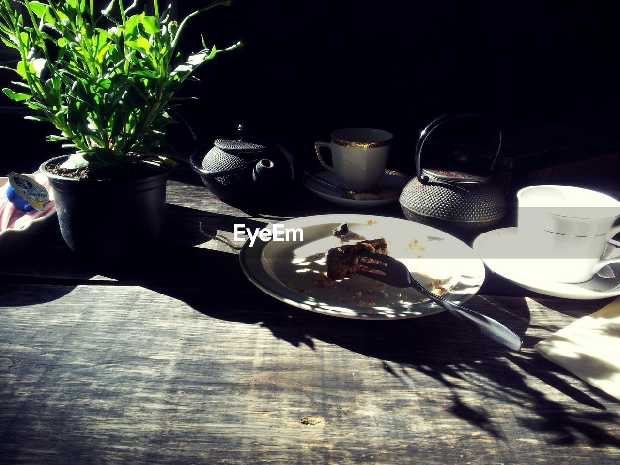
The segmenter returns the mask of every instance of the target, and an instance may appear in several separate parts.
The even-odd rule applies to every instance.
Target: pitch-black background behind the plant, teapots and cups
[[[179,1],[175,13],[206,3]],[[394,134],[391,166],[408,174],[420,129],[443,113],[525,125],[538,144],[549,127],[618,136],[620,33],[607,2],[236,0],[196,17],[183,49],[201,48],[201,34],[218,48],[245,45],[182,90],[200,97],[180,110],[198,139],[169,126],[182,154],[234,135],[241,120],[275,136],[298,167],[318,166],[312,144],[337,128],[383,128]],[[9,78],[2,71],[3,87]],[[22,120],[3,94],[0,105],[4,171],[62,153],[45,141],[47,125]]]

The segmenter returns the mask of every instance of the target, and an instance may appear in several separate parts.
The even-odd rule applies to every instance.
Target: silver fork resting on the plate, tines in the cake
[[[356,270],[358,275],[380,281],[381,283],[386,283],[387,285],[394,286],[396,288],[414,288],[423,296],[440,304],[454,316],[459,317],[461,320],[478,329],[482,332],[482,334],[513,350],[521,349],[521,344],[523,341],[510,329],[488,316],[474,312],[473,310],[462,307],[459,304],[455,304],[454,302],[446,300],[441,296],[433,294],[427,288],[418,283],[418,281],[414,280],[405,264],[394,259],[394,257],[388,257],[387,255],[376,254],[374,252],[361,252],[361,255],[381,262],[371,263],[366,260],[360,261],[360,263],[363,263],[364,266],[372,268],[373,270],[378,270],[384,274]]]

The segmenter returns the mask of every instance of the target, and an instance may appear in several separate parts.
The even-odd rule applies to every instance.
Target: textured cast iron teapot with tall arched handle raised
[[[497,132],[497,148],[490,166],[482,171],[478,169],[477,172],[462,167],[423,167],[422,148],[428,136],[445,123],[466,119],[474,123],[490,122]],[[402,190],[399,198],[407,219],[467,238],[471,234],[492,229],[507,210],[505,195],[493,175],[501,148],[502,130],[493,118],[467,114],[443,115],[433,120],[420,134],[415,148],[416,174]],[[469,150],[484,153],[476,148],[470,147]],[[451,156],[453,159],[467,159],[467,154],[459,149],[455,149]]]

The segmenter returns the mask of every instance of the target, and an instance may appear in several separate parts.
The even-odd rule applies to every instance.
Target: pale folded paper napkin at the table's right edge
[[[620,400],[620,298],[572,322],[534,348]]]

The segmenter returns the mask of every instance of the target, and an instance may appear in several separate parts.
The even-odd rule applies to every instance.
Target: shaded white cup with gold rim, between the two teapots
[[[339,177],[343,187],[361,191],[373,189],[386,167],[392,146],[391,133],[380,129],[348,128],[334,131],[331,138],[330,143],[314,143],[321,164]],[[330,149],[334,166],[325,162],[321,147]]]

